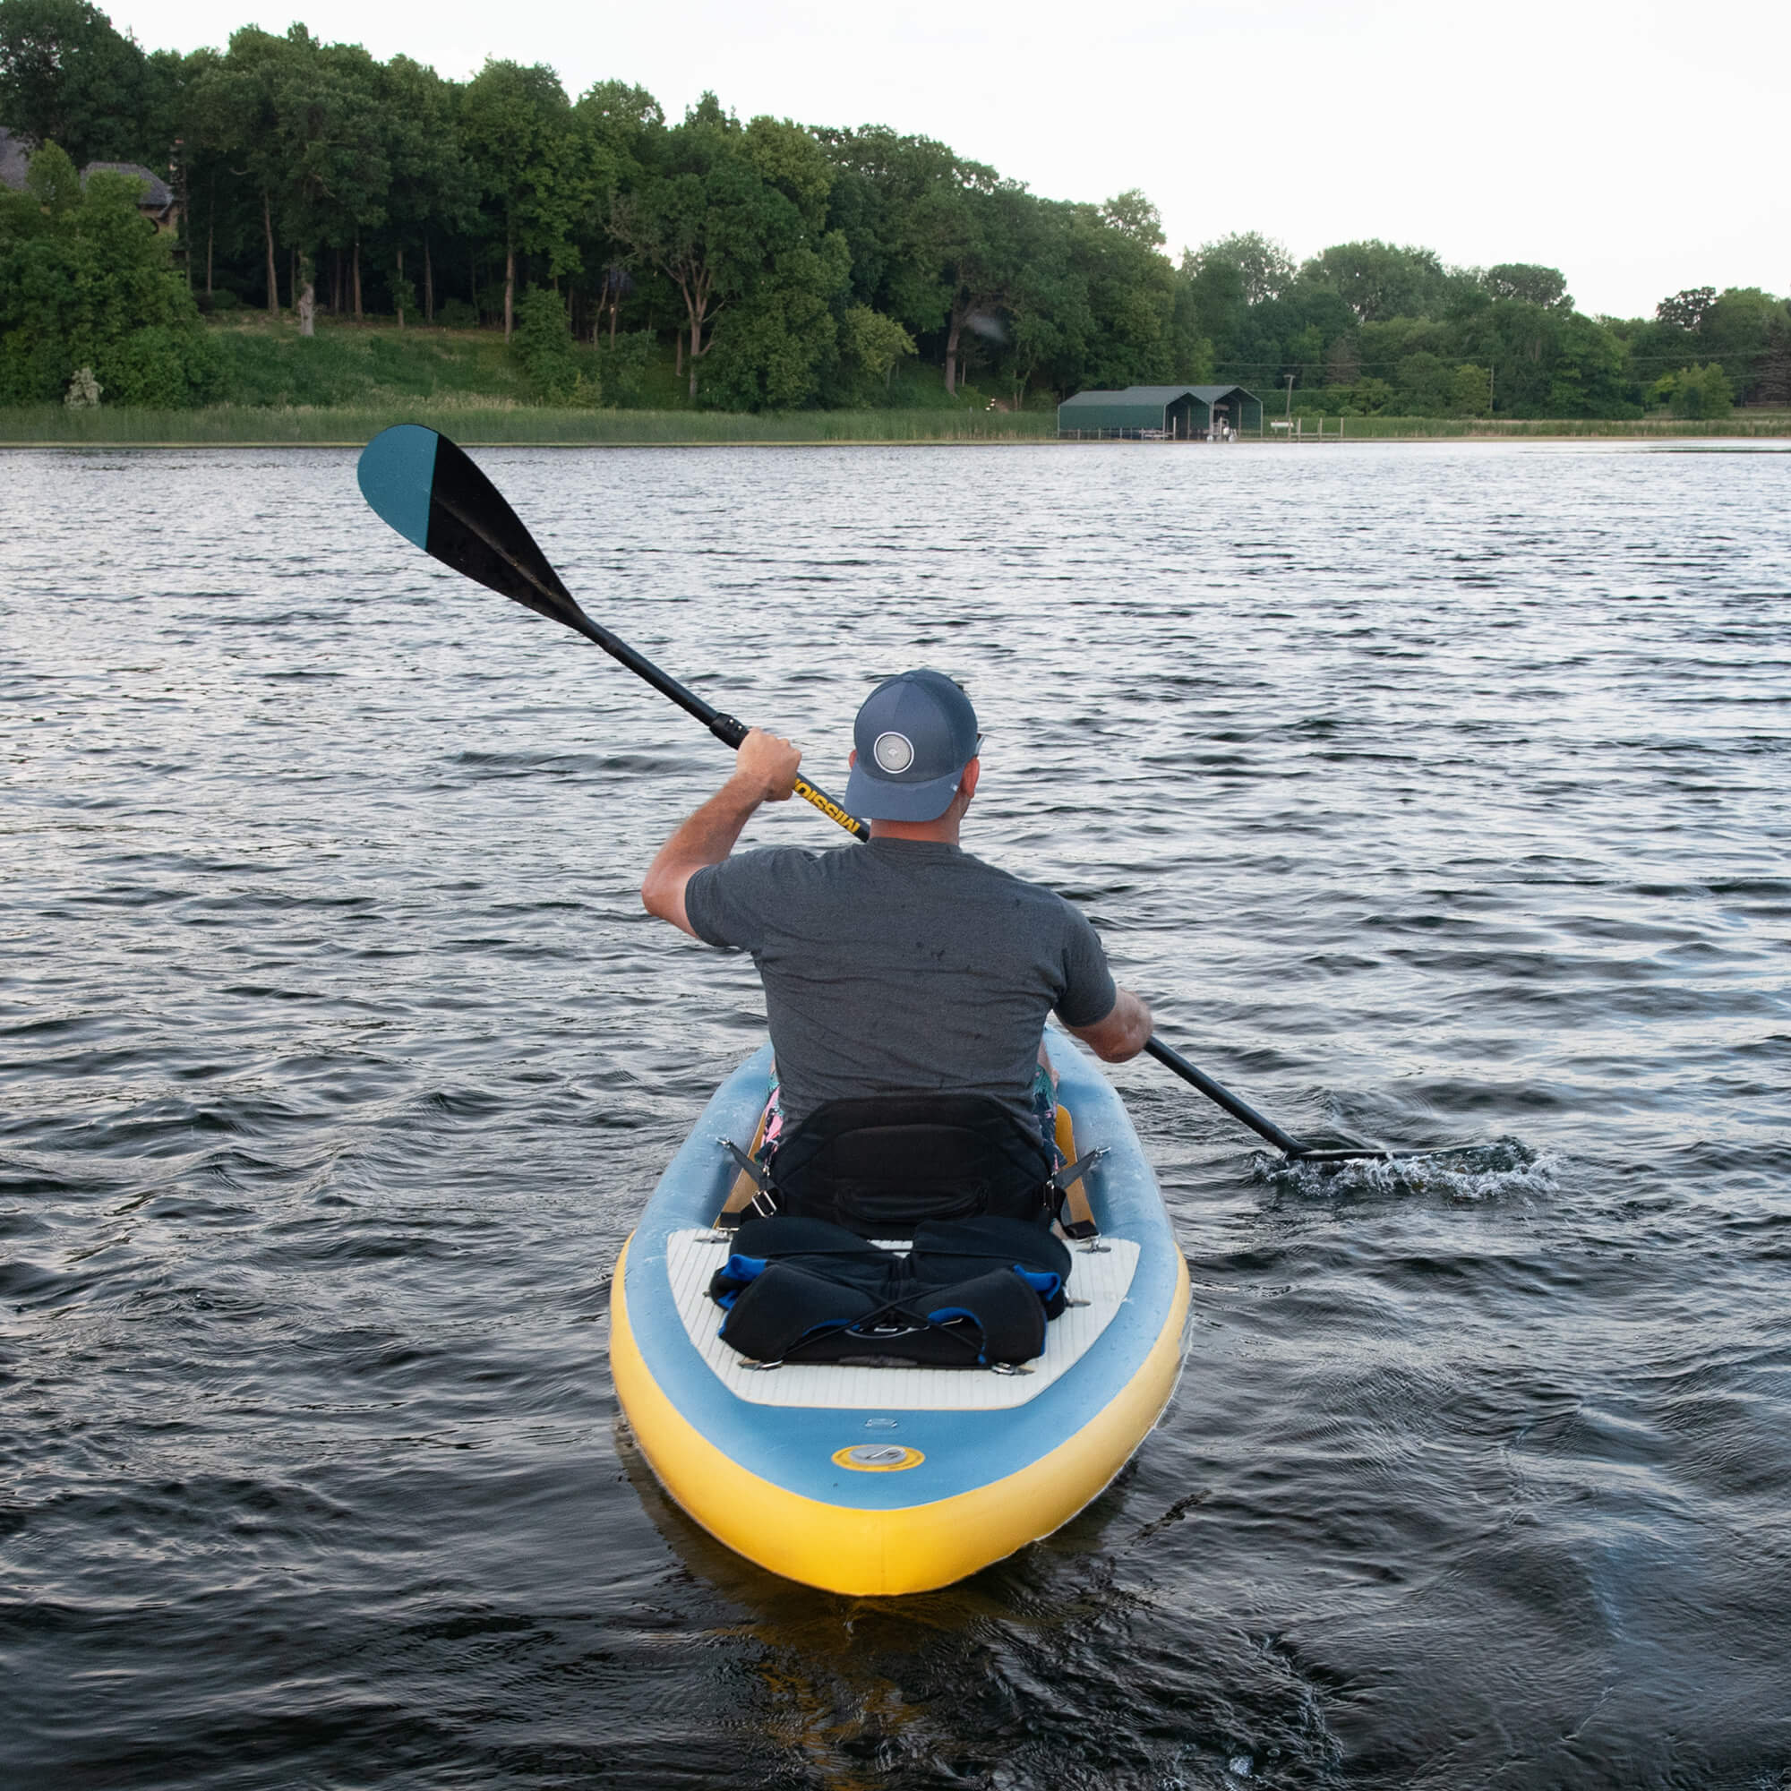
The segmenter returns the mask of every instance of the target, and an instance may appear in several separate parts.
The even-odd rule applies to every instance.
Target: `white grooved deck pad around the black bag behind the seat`
[[[679,1230],[666,1239],[672,1297],[697,1352],[716,1379],[754,1406],[829,1406],[874,1411],[999,1411],[1037,1399],[1087,1354],[1112,1324],[1132,1288],[1139,1247],[1128,1238],[1096,1238],[1103,1248],[1069,1247],[1073,1268],[1064,1290],[1071,1306],[1044,1327],[1044,1354],[1030,1374],[989,1368],[847,1368],[840,1363],[783,1363],[749,1368],[720,1336],[722,1309],[709,1298],[709,1277],[727,1261],[731,1241],[713,1230]],[[887,1243],[887,1250],[906,1250]]]

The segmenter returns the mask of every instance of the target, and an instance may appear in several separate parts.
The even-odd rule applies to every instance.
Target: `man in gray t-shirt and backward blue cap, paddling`
[[[784,1132],[829,1101],[949,1091],[999,1103],[1037,1137],[1051,1110],[1046,1015],[1116,1064],[1144,1050],[1150,1008],[1114,985],[1062,896],[960,847],[981,736],[951,679],[888,679],[853,738],[845,806],[870,822],[869,844],[736,856],[802,761],[754,729],[734,774],[659,849],[641,901],[693,938],[752,953]]]

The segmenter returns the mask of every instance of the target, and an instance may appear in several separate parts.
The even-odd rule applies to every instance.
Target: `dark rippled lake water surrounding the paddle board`
[[[774,1580],[605,1358],[759,1037],[636,899],[727,754],[353,455],[0,455],[0,1778],[1791,1784],[1791,455],[478,458],[835,792],[962,675],[969,844],[1282,1125],[1487,1148],[1125,1066],[1162,1426],[956,1589]]]

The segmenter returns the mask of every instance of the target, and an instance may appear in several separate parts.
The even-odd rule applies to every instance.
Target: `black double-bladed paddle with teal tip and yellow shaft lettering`
[[[598,627],[561,584],[561,577],[536,546],[516,512],[503,501],[498,487],[451,442],[435,430],[416,423],[399,423],[381,430],[360,455],[362,496],[407,541],[444,566],[478,580],[500,596],[507,596],[537,616],[559,621],[562,627],[595,641],[611,659],[621,661],[636,677],[645,679],[670,697],[686,715],[693,715],[725,747],[740,749],[747,738],[743,722],[722,715],[695,691],[668,677],[650,659],[638,654],[620,636]],[[831,795],[817,790],[806,777],[797,777],[795,793],[813,802],[831,822],[860,840],[870,838],[870,829],[849,815]],[[1306,1144],[1291,1132],[1282,1132],[1273,1119],[1264,1119],[1247,1101],[1220,1087],[1177,1051],[1152,1039],[1144,1050],[1166,1069],[1196,1087],[1207,1100],[1218,1103],[1234,1119],[1241,1119],[1257,1137],[1268,1139],[1291,1162],[1358,1162],[1390,1161],[1390,1150],[1322,1150]],[[1399,1152],[1399,1155],[1413,1155]],[[1435,1155],[1418,1152],[1417,1155]]]

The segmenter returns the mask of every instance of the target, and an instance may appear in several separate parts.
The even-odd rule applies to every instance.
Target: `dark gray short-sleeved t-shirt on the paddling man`
[[[1118,998],[1062,896],[933,840],[741,853],[691,876],[684,912],[698,938],[752,953],[786,1125],[822,1101],[953,1089],[1033,1128],[1046,1014],[1089,1026]]]

